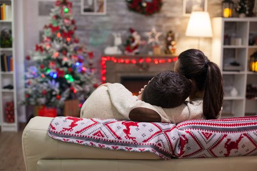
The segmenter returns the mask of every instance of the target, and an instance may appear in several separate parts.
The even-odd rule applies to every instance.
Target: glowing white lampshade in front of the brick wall
[[[190,15],[186,36],[212,37],[210,16],[208,12],[195,11]]]

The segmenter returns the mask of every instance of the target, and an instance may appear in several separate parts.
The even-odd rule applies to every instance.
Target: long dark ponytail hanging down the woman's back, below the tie
[[[216,119],[223,103],[223,81],[217,64],[206,63],[207,75],[205,80],[205,93],[203,112],[206,119]]]

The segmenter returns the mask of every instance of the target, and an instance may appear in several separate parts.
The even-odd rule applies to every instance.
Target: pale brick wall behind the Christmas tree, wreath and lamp
[[[38,16],[38,8],[40,8],[38,7],[38,1],[43,0],[24,0],[25,54],[34,48],[35,43],[39,42],[39,31],[44,24],[49,23],[48,17]],[[163,36],[160,37],[163,45],[166,32],[170,29],[173,30],[177,34],[178,54],[188,48],[197,48],[197,39],[185,36],[189,17],[183,17],[182,15],[183,0],[164,0],[161,12],[150,17],[128,11],[125,0],[107,0],[107,15],[81,15],[80,0],[71,1],[73,2],[74,19],[77,23],[76,34],[81,43],[87,44],[94,51],[96,56],[95,63],[98,66],[103,49],[106,46],[113,45],[111,33],[121,33],[122,40],[125,42],[129,27],[137,30],[144,40],[147,40],[145,33],[155,27],[157,31],[163,33]],[[210,17],[220,16],[221,1],[208,0]],[[42,7],[44,8],[44,6]],[[211,39],[202,38],[200,49],[210,57]],[[149,47],[147,46],[142,49],[143,52],[148,50]]]

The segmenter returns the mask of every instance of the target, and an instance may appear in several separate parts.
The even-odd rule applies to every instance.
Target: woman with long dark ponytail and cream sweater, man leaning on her
[[[224,93],[222,75],[217,64],[210,62],[202,51],[188,49],[179,55],[174,71],[191,80],[192,91],[189,101],[181,106],[163,108],[166,120],[177,124],[191,119],[218,119]],[[139,99],[144,88],[139,92]],[[156,116],[153,120],[147,114],[133,113],[129,118],[138,122],[163,122],[161,117]]]

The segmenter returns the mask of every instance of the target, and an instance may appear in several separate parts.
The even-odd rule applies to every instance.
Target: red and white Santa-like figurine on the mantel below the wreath
[[[137,31],[135,31],[133,28],[129,29],[130,35],[124,44],[125,51],[124,54],[126,55],[135,55],[139,54],[139,46],[140,44],[143,44],[143,41],[141,41],[141,37]]]

